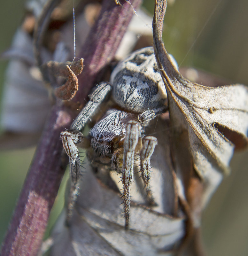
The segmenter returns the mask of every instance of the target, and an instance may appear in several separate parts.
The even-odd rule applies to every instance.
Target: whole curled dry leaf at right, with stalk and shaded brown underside
[[[240,84],[203,86],[174,68],[162,41],[166,5],[163,0],[155,4],[154,52],[167,90],[179,198],[192,231],[200,226],[201,210],[222,174],[228,173],[235,146],[248,144],[248,89]]]

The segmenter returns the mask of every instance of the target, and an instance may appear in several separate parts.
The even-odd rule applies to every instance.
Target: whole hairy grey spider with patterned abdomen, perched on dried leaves
[[[167,94],[152,47],[130,54],[112,71],[110,82],[101,82],[90,95],[90,101],[74,120],[71,129],[61,132],[64,149],[70,158],[70,175],[74,182],[79,179],[80,158],[76,144],[83,134],[85,124],[95,115],[104,99],[111,94],[117,104],[109,109],[89,132],[92,161],[110,165],[121,172],[123,183],[125,229],[129,227],[130,185],[134,162],[140,161],[140,173],[147,200],[154,205],[149,181],[150,157],[157,144],[154,136],[146,136],[145,128],[157,115],[167,111]]]

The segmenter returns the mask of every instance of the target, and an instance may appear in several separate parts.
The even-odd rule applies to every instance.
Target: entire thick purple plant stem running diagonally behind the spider
[[[134,8],[140,3],[141,0],[132,2]],[[97,74],[112,60],[132,15],[133,9],[126,2],[122,8],[114,0],[103,1],[99,18],[82,47],[84,70],[79,77],[81,86],[76,101],[85,104]],[[70,127],[74,118],[75,113],[67,110],[61,102],[52,107],[13,213],[1,249],[2,256],[37,255],[66,167],[61,157],[59,134]]]

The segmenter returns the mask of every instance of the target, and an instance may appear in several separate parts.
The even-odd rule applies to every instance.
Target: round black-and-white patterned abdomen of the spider
[[[141,113],[167,104],[152,47],[137,50],[121,61],[113,70],[110,83],[113,99],[128,111]]]

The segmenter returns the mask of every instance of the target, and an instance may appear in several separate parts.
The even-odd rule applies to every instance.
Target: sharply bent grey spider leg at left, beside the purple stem
[[[94,92],[89,96],[89,102],[74,120],[73,124],[71,125],[71,130],[63,131],[60,134],[63,147],[70,159],[70,176],[72,180],[66,216],[67,223],[70,221],[79,190],[80,155],[76,144],[79,144],[83,138],[83,134],[80,132],[80,130],[95,114],[99,105],[104,101],[106,95],[111,91],[111,89],[112,87],[110,84],[106,82],[100,83]]]

